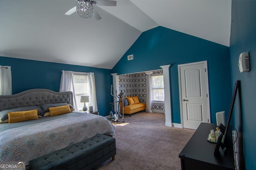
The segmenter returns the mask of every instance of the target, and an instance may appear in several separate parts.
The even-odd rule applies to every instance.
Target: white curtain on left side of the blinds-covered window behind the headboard
[[[62,75],[60,79],[60,92],[73,92],[73,103],[75,111],[78,111],[76,106],[76,95],[74,89],[74,74],[72,71],[62,70]]]

